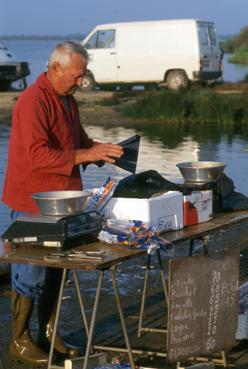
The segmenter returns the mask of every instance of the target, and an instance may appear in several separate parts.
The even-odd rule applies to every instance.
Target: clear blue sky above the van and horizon
[[[0,0],[0,36],[87,34],[102,23],[196,18],[220,35],[248,25],[248,0]]]

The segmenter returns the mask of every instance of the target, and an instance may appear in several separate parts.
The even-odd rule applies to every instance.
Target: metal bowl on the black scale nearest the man
[[[42,215],[70,215],[83,211],[92,196],[89,191],[51,191],[32,195]]]

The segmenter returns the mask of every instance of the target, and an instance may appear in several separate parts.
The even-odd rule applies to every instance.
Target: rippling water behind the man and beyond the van
[[[7,45],[19,58],[29,61],[30,84],[45,69],[49,51],[54,41],[8,41]],[[226,64],[227,56],[224,58]],[[242,72],[241,72],[242,71]],[[225,67],[225,79],[237,81],[248,72],[237,65]],[[235,183],[236,190],[248,195],[248,130],[242,127],[203,127],[198,125],[137,125],[129,128],[85,126],[87,133],[96,140],[119,142],[132,135],[141,135],[137,172],[157,170],[165,178],[182,181],[176,164],[182,161],[214,160],[226,163],[225,173]],[[0,192],[7,161],[7,144],[10,127],[0,125]],[[108,176],[121,179],[128,172],[113,165],[98,168],[90,165],[82,174],[84,187],[101,186]],[[0,234],[9,224],[9,210],[0,204]]]

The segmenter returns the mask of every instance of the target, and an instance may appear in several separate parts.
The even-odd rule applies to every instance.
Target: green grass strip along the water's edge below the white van
[[[248,93],[152,91],[120,107],[126,116],[175,123],[248,123]]]

